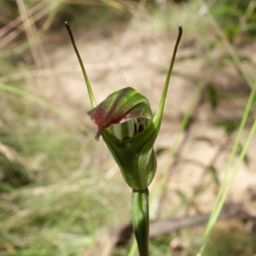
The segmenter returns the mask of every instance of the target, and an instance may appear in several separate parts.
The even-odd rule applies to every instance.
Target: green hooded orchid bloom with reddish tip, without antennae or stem
[[[148,100],[132,88],[108,96],[88,112],[115,158],[125,182],[136,190],[148,187],[156,172],[156,132]],[[107,129],[106,129],[107,128]]]

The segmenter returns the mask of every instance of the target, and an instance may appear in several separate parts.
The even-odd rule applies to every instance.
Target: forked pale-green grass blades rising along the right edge
[[[212,214],[211,214],[211,217],[209,219],[209,222],[208,222],[206,230],[205,230],[202,246],[200,247],[200,250],[199,250],[199,252],[198,252],[198,254],[196,256],[201,256],[202,253],[204,252],[204,249],[205,249],[205,246],[207,244],[207,241],[208,241],[208,239],[209,239],[209,237],[211,235],[212,228],[213,228],[214,224],[216,223],[216,221],[218,219],[218,216],[220,214],[221,208],[223,207],[223,204],[224,204],[224,202],[225,202],[225,200],[227,198],[228,192],[229,192],[229,190],[230,190],[230,188],[232,186],[234,178],[236,177],[236,173],[239,170],[239,166],[240,166],[241,162],[243,161],[244,156],[245,156],[245,154],[246,154],[246,152],[248,150],[248,147],[250,145],[250,142],[252,141],[253,135],[255,134],[255,131],[256,131],[256,120],[253,123],[253,127],[252,127],[252,129],[250,131],[250,134],[249,134],[247,140],[246,140],[246,143],[244,144],[243,150],[239,154],[239,159],[238,159],[238,161],[236,163],[236,166],[235,166],[235,169],[234,169],[234,171],[232,173],[232,176],[231,176],[230,180],[227,181],[228,173],[230,172],[230,167],[231,167],[231,164],[234,161],[234,157],[236,156],[237,148],[239,146],[239,141],[241,139],[241,135],[242,135],[244,126],[246,124],[246,120],[247,120],[248,115],[250,113],[250,109],[252,108],[253,100],[255,98],[255,93],[256,93],[256,82],[253,84],[252,92],[250,93],[250,97],[248,99],[248,102],[246,104],[246,108],[244,110],[244,115],[243,115],[243,118],[241,120],[241,124],[239,126],[239,130],[237,132],[236,140],[234,142],[234,145],[233,145],[233,148],[232,148],[232,152],[230,154],[230,158],[229,158],[227,167],[225,169],[225,176],[224,176],[223,182],[221,182],[221,187],[220,187],[220,189],[218,191],[216,202],[215,202],[214,207],[212,209]]]

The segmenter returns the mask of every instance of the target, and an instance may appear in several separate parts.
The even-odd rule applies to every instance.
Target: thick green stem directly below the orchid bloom
[[[132,226],[140,256],[149,256],[148,188],[145,190],[132,190]]]

